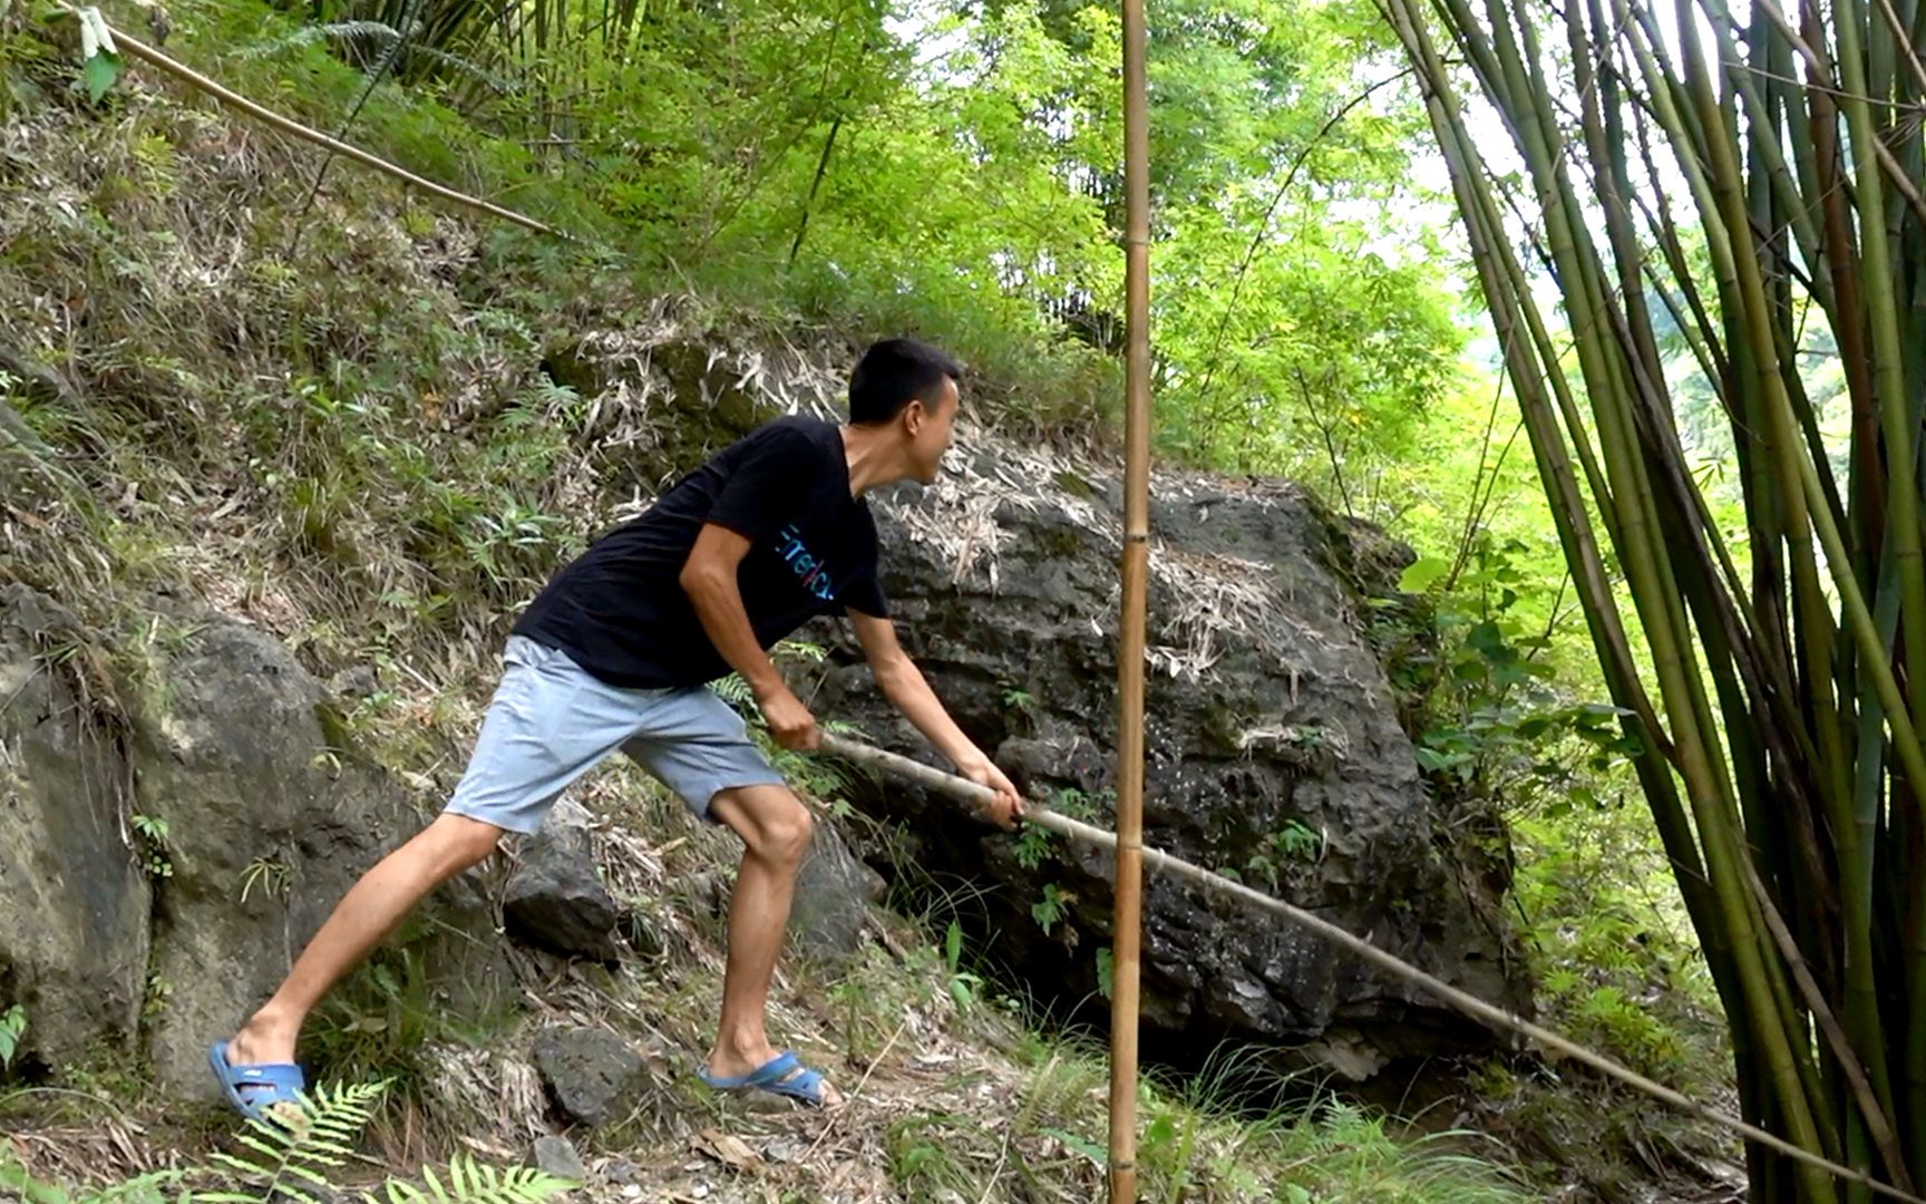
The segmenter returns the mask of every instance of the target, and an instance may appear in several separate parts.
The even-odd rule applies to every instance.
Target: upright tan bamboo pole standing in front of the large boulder
[[[1117,886],[1109,992],[1109,1200],[1136,1200],[1136,1002],[1144,925],[1144,622],[1150,591],[1150,114],[1144,0],[1123,0],[1125,418],[1117,615]]]

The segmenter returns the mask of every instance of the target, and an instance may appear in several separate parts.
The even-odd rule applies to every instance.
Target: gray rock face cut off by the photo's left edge
[[[133,1052],[152,890],[112,680],[52,599],[0,589],[0,1011],[23,1061]]]

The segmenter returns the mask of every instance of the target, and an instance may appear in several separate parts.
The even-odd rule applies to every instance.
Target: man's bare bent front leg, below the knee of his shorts
[[[790,927],[795,871],[809,855],[815,821],[784,786],[740,786],[711,799],[709,809],[742,836],[742,869],[728,907],[728,969],[722,973],[722,1021],[709,1052],[709,1073],[738,1077],[780,1054],[768,1044],[768,982]],[[822,1085],[822,1102],[842,1094]]]

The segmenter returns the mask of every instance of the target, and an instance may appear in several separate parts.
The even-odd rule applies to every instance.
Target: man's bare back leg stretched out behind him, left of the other
[[[227,1042],[233,1065],[293,1061],[308,1011],[354,969],[429,890],[495,851],[495,824],[443,813],[414,834],[335,903],[333,915],[295,959],[295,969]]]

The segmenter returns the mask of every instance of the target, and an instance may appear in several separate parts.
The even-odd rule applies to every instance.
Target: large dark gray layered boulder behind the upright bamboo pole
[[[1121,489],[1044,451],[975,457],[878,507],[905,647],[957,722],[1032,798],[1111,824]],[[1452,840],[1364,636],[1366,595],[1408,559],[1294,487],[1159,478],[1152,507],[1144,838],[1308,907],[1491,1002],[1529,986],[1495,851]],[[938,763],[832,643],[822,715]],[[926,869],[984,875],[980,936],[1032,990],[1096,1000],[1111,944],[1109,857],[1040,851],[886,782],[861,805],[909,821]],[[1489,830],[1489,826],[1487,826]],[[1048,930],[1046,930],[1048,929]],[[1100,1002],[1100,1000],[1098,1000]],[[1281,921],[1148,880],[1142,1019],[1163,1048],[1298,1046],[1367,1077],[1495,1036]]]

